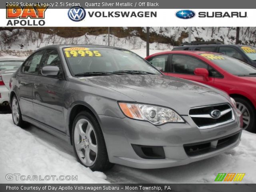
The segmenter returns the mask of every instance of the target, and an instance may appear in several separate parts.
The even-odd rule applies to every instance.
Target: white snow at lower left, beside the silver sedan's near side
[[[0,115],[0,183],[108,183],[102,172],[77,162],[66,142],[31,126],[15,126],[11,114]],[[7,181],[6,174],[78,176],[77,181]]]

